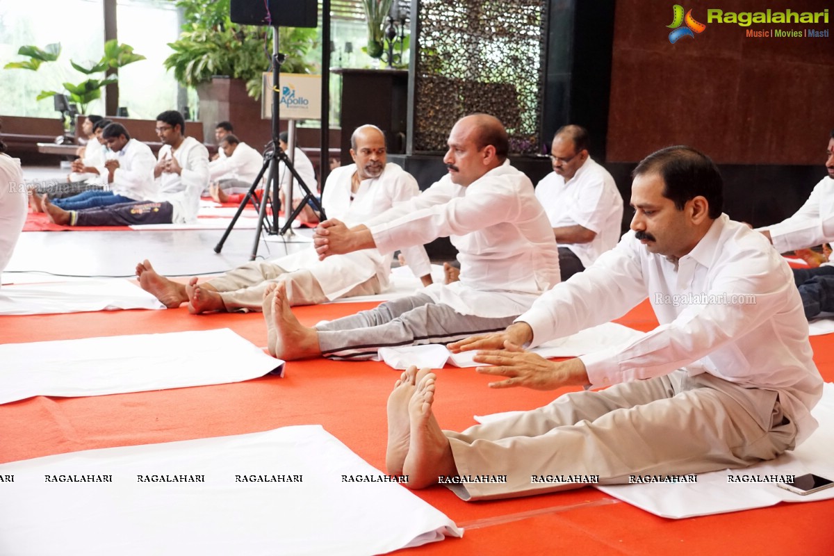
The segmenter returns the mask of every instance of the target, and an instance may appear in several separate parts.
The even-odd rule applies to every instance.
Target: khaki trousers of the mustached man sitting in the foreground
[[[796,426],[775,391],[678,370],[444,432],[460,475],[507,475],[503,484],[453,488],[461,498],[485,499],[585,486],[534,483],[533,475],[597,475],[599,483],[615,484],[630,475],[746,467],[793,448]]]

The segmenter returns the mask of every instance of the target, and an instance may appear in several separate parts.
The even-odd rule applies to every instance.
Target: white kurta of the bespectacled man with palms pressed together
[[[163,145],[159,149],[159,160],[166,157],[171,157],[170,145]],[[171,203],[174,224],[193,222],[200,208],[200,194],[208,188],[208,148],[197,139],[187,137],[174,151],[173,158],[183,168],[181,175],[167,172],[160,174],[156,180],[159,193],[150,200]]]

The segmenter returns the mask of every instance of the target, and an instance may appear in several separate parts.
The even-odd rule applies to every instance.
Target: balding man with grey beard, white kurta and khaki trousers
[[[417,182],[394,163],[386,164],[385,137],[375,126],[357,128],[351,139],[355,163],[331,173],[324,188],[324,209],[346,222],[361,223],[420,193]],[[422,245],[406,250],[409,267],[423,283],[431,283],[429,257]],[[191,313],[259,311],[270,284],[284,283],[292,305],[309,305],[357,295],[381,293],[389,287],[392,253],[364,249],[319,261],[310,246],[269,261],[253,261],[229,273],[188,285],[164,278],[145,260],[136,273],[139,284],[168,308],[188,303]],[[271,301],[271,299],[270,299]],[[267,307],[269,313],[269,306]],[[270,313],[271,314],[271,313]]]

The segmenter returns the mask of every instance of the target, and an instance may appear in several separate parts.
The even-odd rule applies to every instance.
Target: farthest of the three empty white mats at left
[[[0,288],[0,315],[163,308],[153,295],[123,279],[12,284]]]

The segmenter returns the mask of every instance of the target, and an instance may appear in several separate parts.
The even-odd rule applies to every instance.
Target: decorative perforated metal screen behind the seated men
[[[455,121],[499,118],[510,153],[540,153],[546,0],[414,0],[412,153],[446,150]]]

